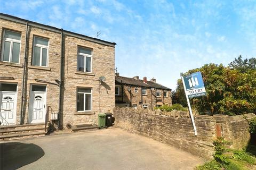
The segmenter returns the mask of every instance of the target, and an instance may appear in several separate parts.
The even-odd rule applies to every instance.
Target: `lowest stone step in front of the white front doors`
[[[45,132],[14,133],[0,136],[0,141],[44,136]]]

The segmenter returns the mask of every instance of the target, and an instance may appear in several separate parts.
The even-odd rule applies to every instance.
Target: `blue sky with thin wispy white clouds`
[[[256,54],[256,1],[0,1],[2,13],[117,43],[120,75],[176,87],[181,72]]]

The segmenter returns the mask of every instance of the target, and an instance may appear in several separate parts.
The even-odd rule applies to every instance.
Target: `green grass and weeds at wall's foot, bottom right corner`
[[[213,142],[215,146],[214,159],[202,166],[197,166],[197,170],[221,169],[221,170],[246,170],[256,168],[256,158],[245,150],[227,149],[227,141],[218,139]]]

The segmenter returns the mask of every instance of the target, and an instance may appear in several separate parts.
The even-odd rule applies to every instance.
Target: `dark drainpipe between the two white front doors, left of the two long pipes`
[[[22,92],[21,92],[21,110],[20,110],[20,124],[23,124],[23,100],[24,100],[24,86],[25,86],[25,71],[27,63],[27,41],[28,41],[28,21],[26,24],[26,41],[25,41],[25,55],[24,55],[24,64],[23,64],[23,75],[22,75]]]

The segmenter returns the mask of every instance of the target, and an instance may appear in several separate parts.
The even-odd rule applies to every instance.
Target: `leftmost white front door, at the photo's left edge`
[[[12,125],[16,122],[17,92],[0,92],[1,125]]]

